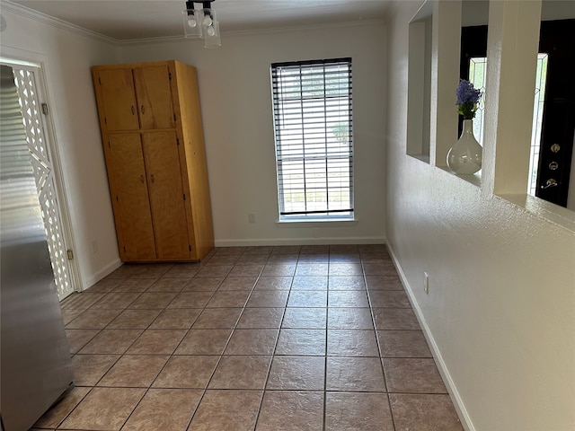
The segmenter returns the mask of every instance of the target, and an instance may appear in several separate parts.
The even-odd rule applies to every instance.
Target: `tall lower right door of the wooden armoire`
[[[190,243],[176,134],[143,133],[142,142],[158,259],[189,259]]]

